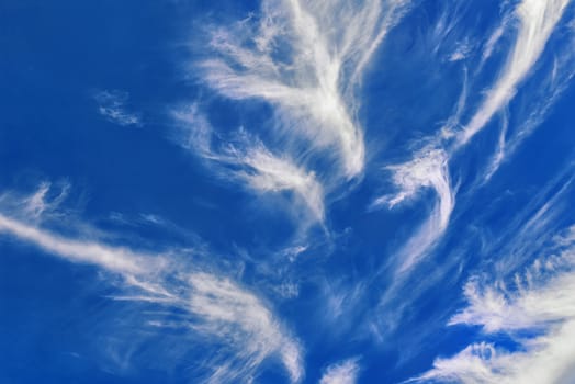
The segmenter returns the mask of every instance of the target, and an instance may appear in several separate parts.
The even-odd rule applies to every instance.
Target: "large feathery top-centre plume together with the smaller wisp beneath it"
[[[245,20],[212,24],[204,58],[192,64],[198,80],[228,99],[270,104],[273,143],[249,126],[235,137],[219,135],[192,104],[174,113],[187,123],[180,144],[252,191],[293,193],[298,223],[323,223],[326,197],[363,171],[357,92],[370,58],[408,5],[407,0],[264,0],[260,12]],[[318,159],[330,165],[320,174]]]

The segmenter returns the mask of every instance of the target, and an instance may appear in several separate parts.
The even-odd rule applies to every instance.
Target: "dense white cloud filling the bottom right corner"
[[[571,227],[555,237],[548,255],[516,274],[512,282],[487,284],[475,278],[465,287],[469,305],[450,325],[481,326],[486,335],[507,334],[519,347],[505,350],[488,342],[474,343],[451,358],[437,359],[430,371],[410,382],[572,382],[574,234],[575,227]]]

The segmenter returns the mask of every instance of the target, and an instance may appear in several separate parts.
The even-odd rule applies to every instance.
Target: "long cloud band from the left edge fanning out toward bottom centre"
[[[42,184],[24,201],[41,204],[38,196],[46,194],[45,189],[46,184]],[[4,206],[0,206],[0,235],[70,262],[99,268],[110,273],[111,284],[116,285],[120,276],[119,289],[125,293],[113,296],[115,300],[153,303],[180,314],[173,315],[176,320],[170,323],[149,320],[149,324],[184,330],[190,349],[198,339],[204,349],[214,346],[212,358],[198,365],[202,371],[198,374],[206,382],[247,380],[255,376],[268,359],[279,359],[291,382],[297,383],[303,377],[302,348],[297,340],[264,301],[214,267],[190,264],[177,250],[150,252],[110,245],[92,238],[93,234],[59,235],[3,211]]]

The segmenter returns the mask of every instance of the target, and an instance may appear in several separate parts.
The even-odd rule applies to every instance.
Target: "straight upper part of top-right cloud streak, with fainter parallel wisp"
[[[566,34],[566,41],[562,46],[556,49],[553,65],[545,74],[542,74],[538,90],[531,92],[535,102],[531,102],[526,116],[519,116],[521,120],[519,129],[511,134],[508,133],[509,112],[506,108],[521,83],[529,78],[532,67],[538,64],[570,2],[570,0],[523,1],[515,11],[515,19],[519,21],[519,27],[504,69],[496,83],[487,91],[483,103],[470,123],[458,134],[456,146],[464,145],[483,129],[496,113],[503,114],[496,151],[485,170],[483,182],[488,181],[523,139],[544,121],[551,108],[575,76],[573,69],[575,67],[575,55],[573,54],[575,36],[571,32],[571,34]],[[484,59],[491,55],[493,46],[501,37],[505,30],[512,25],[512,20],[511,15],[507,15],[501,26],[495,31],[484,49]]]

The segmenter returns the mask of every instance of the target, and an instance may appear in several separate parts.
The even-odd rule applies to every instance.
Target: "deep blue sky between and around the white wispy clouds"
[[[296,262],[281,256],[302,245],[294,235],[298,221],[290,214],[295,208],[286,205],[290,193],[255,196],[215,176],[178,143],[172,114],[200,102],[222,133],[244,126],[273,138],[267,125],[274,115],[267,102],[229,100],[199,81],[192,65],[207,55],[199,45],[204,25],[241,20],[258,12],[257,1],[1,1],[0,190],[30,194],[48,181],[48,199],[54,199],[70,185],[58,212],[98,228],[109,244],[153,251],[199,248],[211,255],[201,262],[219,266],[256,292],[300,340],[306,383],[318,382],[329,364],[356,357],[360,383],[416,376],[438,355],[485,339],[480,327],[446,326],[465,305],[465,282],[496,271],[495,260],[505,256],[497,252],[506,252],[518,226],[573,176],[575,91],[566,86],[537,129],[480,185],[501,128],[498,112],[450,159],[456,204],[444,236],[399,289],[391,290],[399,281],[390,267],[393,258],[429,215],[436,194],[422,189],[396,208],[370,208],[374,199],[394,191],[385,167],[408,160],[414,143],[441,128],[465,76],[472,91],[462,121],[469,121],[512,45],[511,31],[478,71],[480,47],[503,19],[500,2],[449,3],[416,1],[373,56],[359,91],[364,173],[326,197],[329,236],[309,229],[303,241],[307,250]],[[570,5],[560,32],[505,108],[509,138],[549,97],[542,88],[561,47],[573,44],[566,23],[573,13]],[[433,30],[452,15],[458,15],[455,26],[438,45]],[[448,60],[465,38],[471,53]],[[98,94],[105,91],[124,98],[121,108],[138,116],[138,124],[122,126],[100,113]],[[571,190],[561,195],[567,203],[571,197]],[[563,204],[562,210],[541,236],[551,239],[572,225],[575,208]],[[69,223],[56,218],[46,225],[82,238],[82,227]],[[517,268],[534,257],[526,256]],[[121,295],[119,280],[95,266],[70,263],[1,237],[0,382],[203,381],[195,365],[219,345],[147,326],[146,314],[159,306],[111,298]],[[297,285],[297,295],[280,297],[274,287],[282,282]],[[351,294],[358,286],[361,294]],[[388,292],[394,296],[382,304]],[[329,303],[338,297],[343,297],[342,314],[332,316]],[[518,348],[506,335],[487,339]],[[261,383],[286,380],[269,359],[257,374]]]

